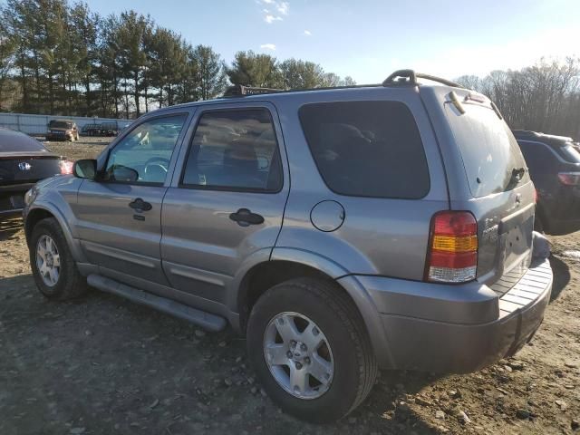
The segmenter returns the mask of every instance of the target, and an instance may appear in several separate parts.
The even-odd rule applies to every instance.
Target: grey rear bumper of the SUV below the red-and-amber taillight
[[[362,285],[369,285],[365,278],[369,277],[360,277]],[[396,369],[464,373],[517,353],[542,323],[552,280],[549,262],[543,260],[530,267],[501,297],[477,283],[443,285],[443,289],[437,288],[440,285],[413,283],[413,292],[404,298],[405,315],[393,311],[381,314],[391,362],[380,363]],[[399,295],[393,298],[396,287],[381,289],[376,284],[375,280],[374,288],[367,290],[379,311],[389,306],[384,304],[385,298],[394,301],[396,307],[396,301],[401,300],[400,291],[395,290]],[[449,293],[453,291],[455,295]],[[432,295],[446,298],[438,300]],[[410,315],[413,311],[417,315]],[[435,320],[446,312],[453,322]],[[473,319],[484,319],[492,312],[493,320],[473,323]]]

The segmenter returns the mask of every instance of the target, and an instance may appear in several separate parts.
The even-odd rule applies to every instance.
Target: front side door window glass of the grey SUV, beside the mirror
[[[186,114],[156,118],[135,127],[111,150],[105,180],[163,183]]]

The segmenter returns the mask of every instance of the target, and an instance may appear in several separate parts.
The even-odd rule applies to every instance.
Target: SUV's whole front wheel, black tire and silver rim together
[[[86,279],[79,273],[56,219],[46,218],[34,226],[29,251],[34,282],[44,296],[65,300],[86,293]]]

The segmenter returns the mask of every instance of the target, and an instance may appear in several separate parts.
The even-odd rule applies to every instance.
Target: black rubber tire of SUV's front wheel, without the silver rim
[[[60,256],[60,273],[58,280],[54,285],[47,285],[43,281],[43,277],[36,264],[36,247],[38,240],[44,235],[53,239],[58,254]],[[49,299],[67,300],[84,295],[88,290],[87,281],[82,276],[74,262],[71,249],[66,243],[66,238],[63,234],[63,229],[58,221],[54,218],[45,218],[39,221],[33,228],[32,237],[30,240],[30,267],[33,271],[34,282],[38,290]]]

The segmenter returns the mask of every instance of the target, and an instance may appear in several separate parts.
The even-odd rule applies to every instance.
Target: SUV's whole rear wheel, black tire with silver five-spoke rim
[[[260,297],[247,351],[272,400],[313,422],[353,411],[378,371],[361,314],[341,288],[322,280],[287,281]]]

